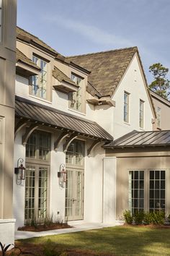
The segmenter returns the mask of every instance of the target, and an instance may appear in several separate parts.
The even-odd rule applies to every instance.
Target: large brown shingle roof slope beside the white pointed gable
[[[112,96],[125,74],[137,47],[68,56],[67,59],[91,71],[89,82],[102,96]]]

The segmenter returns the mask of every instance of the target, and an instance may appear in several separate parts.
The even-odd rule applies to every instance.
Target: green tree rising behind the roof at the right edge
[[[148,87],[161,97],[168,99],[170,95],[170,81],[166,78],[166,75],[169,69],[161,63],[156,63],[149,67],[149,72],[153,74],[154,80]]]

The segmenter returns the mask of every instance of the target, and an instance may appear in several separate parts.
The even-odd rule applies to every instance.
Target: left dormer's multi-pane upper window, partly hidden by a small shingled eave
[[[47,98],[47,62],[37,56],[32,56],[32,61],[40,67],[40,74],[32,76],[32,95]]]

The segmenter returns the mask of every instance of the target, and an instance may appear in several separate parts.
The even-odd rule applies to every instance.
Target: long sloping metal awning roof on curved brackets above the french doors
[[[88,137],[95,137],[105,141],[113,140],[112,136],[94,121],[82,119],[17,96],[15,116],[37,121],[40,124],[51,125],[51,127],[58,127],[58,129],[68,129],[70,132],[78,132],[80,135]]]

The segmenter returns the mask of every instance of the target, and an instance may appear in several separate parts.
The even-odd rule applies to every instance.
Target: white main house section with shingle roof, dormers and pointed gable
[[[17,27],[16,65],[14,167],[26,168],[14,174],[16,229],[52,215],[115,223],[107,145],[156,119],[138,48],[65,57]]]

